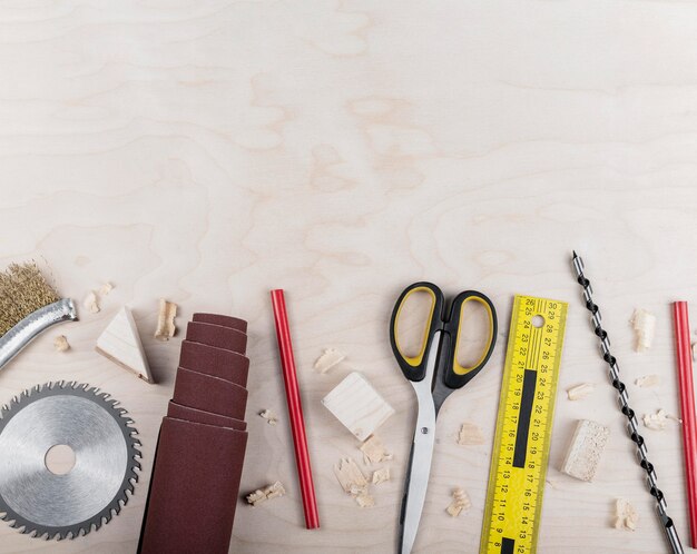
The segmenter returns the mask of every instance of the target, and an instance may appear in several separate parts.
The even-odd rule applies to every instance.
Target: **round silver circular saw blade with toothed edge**
[[[98,530],[128,502],[140,464],[126,410],[98,388],[48,383],[0,409],[0,518],[22,533],[75,538]],[[75,453],[57,475],[46,466],[56,445]]]

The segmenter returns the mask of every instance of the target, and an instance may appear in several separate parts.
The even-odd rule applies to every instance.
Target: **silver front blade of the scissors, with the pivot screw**
[[[402,515],[400,517],[401,554],[409,554],[414,546],[421,512],[423,511],[423,503],[429,487],[433,444],[435,442],[435,404],[431,393],[431,383],[433,380],[433,372],[435,370],[440,338],[440,333],[436,333],[426,362],[425,378],[418,383],[411,382],[416,393],[419,413],[416,415],[414,442],[409,456]]]

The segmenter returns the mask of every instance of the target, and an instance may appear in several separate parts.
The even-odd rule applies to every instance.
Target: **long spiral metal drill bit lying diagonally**
[[[673,554],[683,554],[683,545],[680,544],[680,538],[678,537],[678,532],[675,528],[675,524],[673,520],[666,513],[667,504],[666,498],[664,497],[664,493],[656,485],[656,471],[654,469],[654,464],[648,461],[646,444],[644,442],[644,437],[639,434],[639,424],[637,423],[637,416],[629,407],[629,395],[627,394],[627,387],[619,378],[619,366],[617,365],[617,358],[610,354],[610,339],[608,338],[607,332],[602,328],[600,309],[598,305],[593,303],[593,293],[590,287],[590,281],[583,275],[583,260],[573,253],[573,269],[576,270],[576,276],[578,278],[579,285],[583,287],[583,299],[586,300],[586,308],[590,311],[591,323],[593,325],[593,330],[598,338],[600,339],[600,348],[602,349],[602,359],[610,366],[609,377],[612,383],[612,386],[617,389],[619,394],[619,405],[622,414],[627,417],[627,431],[629,432],[629,438],[634,441],[637,445],[637,456],[639,461],[639,465],[646,472],[646,481],[649,488],[649,493],[651,496],[656,498],[656,511],[660,518],[660,523],[666,532],[666,537],[668,543],[670,544],[670,548]]]

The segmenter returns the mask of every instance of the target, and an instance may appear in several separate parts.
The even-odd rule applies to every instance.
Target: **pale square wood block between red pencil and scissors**
[[[394,414],[394,408],[357,372],[348,374],[322,404],[361,441]]]

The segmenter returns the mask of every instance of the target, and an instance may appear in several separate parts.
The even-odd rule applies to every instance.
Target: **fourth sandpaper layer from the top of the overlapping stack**
[[[179,367],[173,399],[183,406],[244,419],[247,389],[226,379]]]

